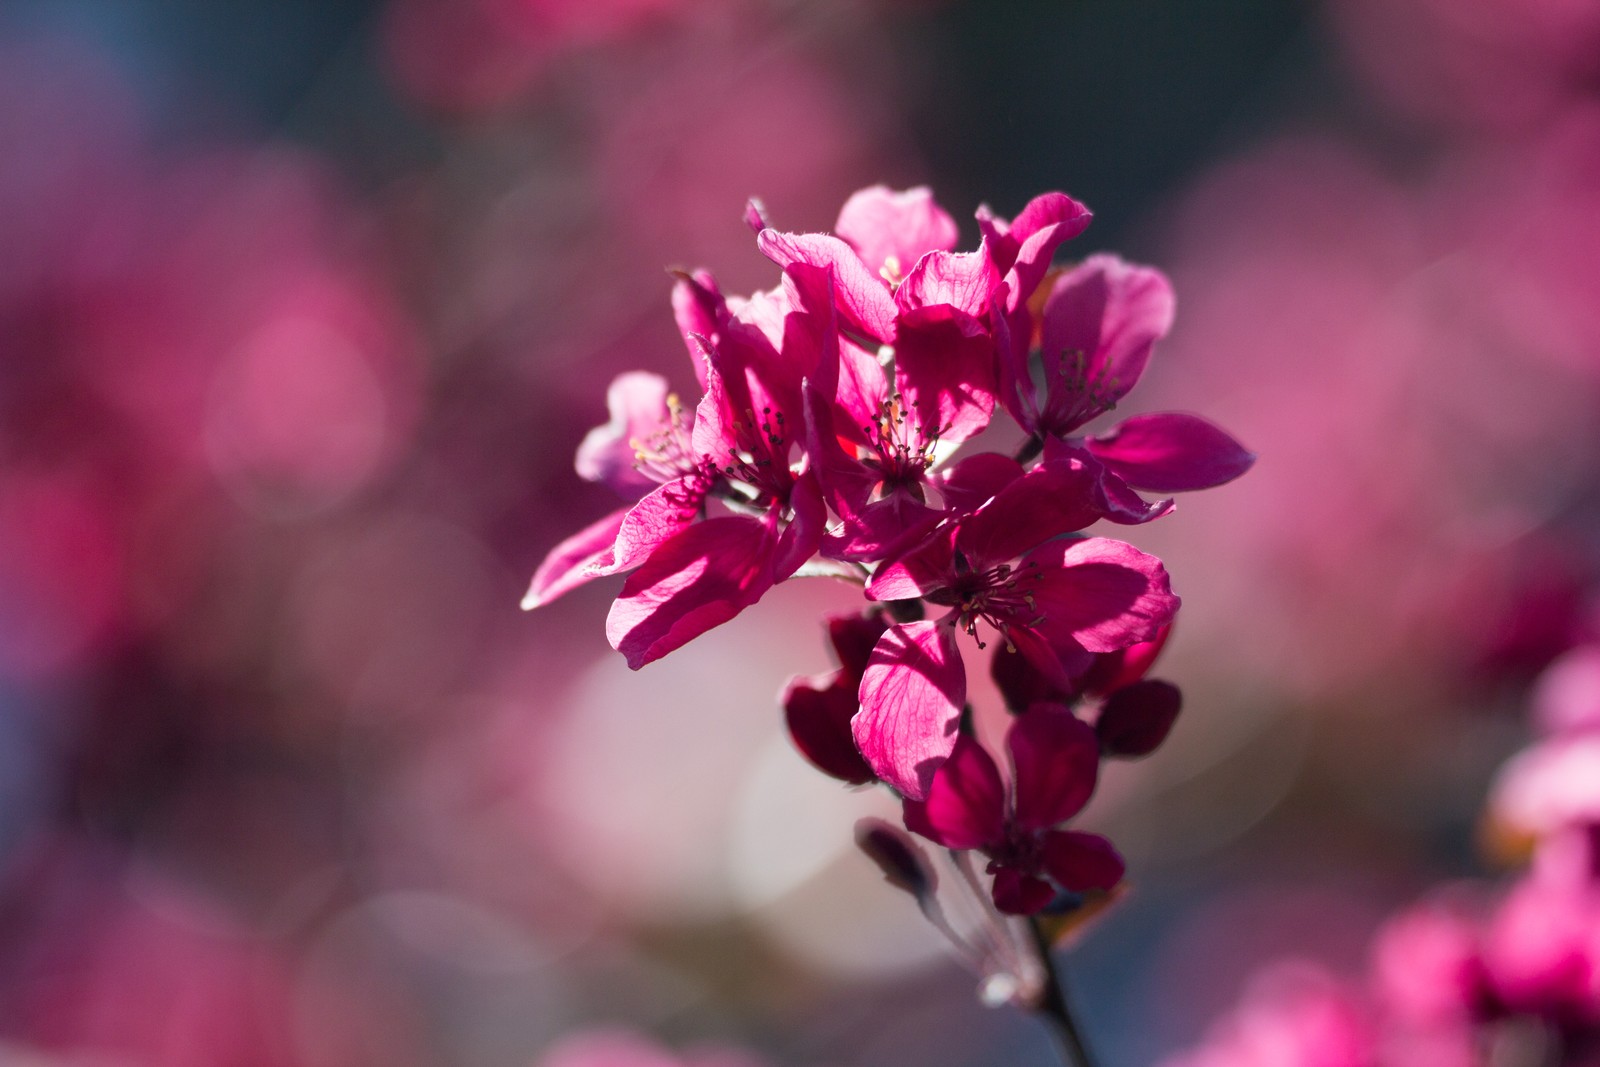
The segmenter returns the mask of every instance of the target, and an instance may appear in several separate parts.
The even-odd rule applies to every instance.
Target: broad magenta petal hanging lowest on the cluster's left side
[[[605,621],[611,648],[638,670],[722,625],[773,585],[770,526],[742,515],[680,530],[634,571]]]

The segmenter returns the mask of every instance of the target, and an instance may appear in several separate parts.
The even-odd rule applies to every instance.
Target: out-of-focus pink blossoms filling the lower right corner
[[[1534,693],[1542,736],[1491,790],[1491,845],[1526,854],[1509,885],[1440,886],[1379,929],[1365,981],[1310,961],[1261,974],[1165,1067],[1600,1065],[1600,646]]]

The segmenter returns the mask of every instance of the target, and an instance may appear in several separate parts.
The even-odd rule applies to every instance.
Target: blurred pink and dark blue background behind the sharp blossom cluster
[[[1595,635],[1592,0],[13,0],[0,8],[0,1064],[518,1067],[587,1027],[794,1067],[1053,1062],[789,749],[790,582],[640,673],[613,374],[669,266],[926,182],[1174,280],[1133,403],[1261,454],[1131,537],[1187,707],[1090,822],[1112,1067],[1482,869]]]

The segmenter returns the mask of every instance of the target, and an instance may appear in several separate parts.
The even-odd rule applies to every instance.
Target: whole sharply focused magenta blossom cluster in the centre
[[[872,603],[829,621],[838,670],[784,697],[800,750],[894,789],[923,837],[984,853],[1005,912],[1114,886],[1110,845],[1058,827],[1102,755],[1142,755],[1171,726],[1178,691],[1142,675],[1179,601],[1160,560],[1083,531],[1166,515],[1165,494],[1254,459],[1192,414],[1086,429],[1170,330],[1166,278],[1106,254],[1051,267],[1090,221],[1059,192],[1011,221],[981,208],[966,253],[926,189],[862,189],[834,234],[773,229],[755,202],[746,221],[779,285],[741,299],[678,275],[701,397],[646,373],[611,384],[578,472],[632,502],[557,545],[525,606],[627,573],[606,635],[637,669],[776,582],[853,581]],[[1021,445],[979,451],[1000,414]],[[992,645],[1018,715],[1010,776],[974,739],[963,645]]]

